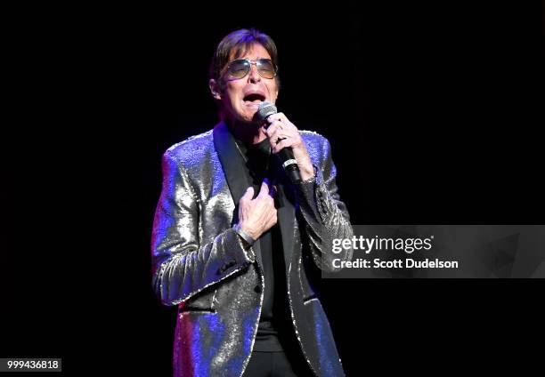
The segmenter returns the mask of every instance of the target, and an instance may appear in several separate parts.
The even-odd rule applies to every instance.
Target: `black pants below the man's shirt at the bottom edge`
[[[252,352],[243,377],[311,377],[314,374],[300,354]]]

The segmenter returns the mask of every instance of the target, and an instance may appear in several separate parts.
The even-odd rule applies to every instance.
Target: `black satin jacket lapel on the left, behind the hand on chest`
[[[227,186],[231,191],[232,201],[235,205],[235,210],[232,216],[233,224],[238,222],[238,213],[239,213],[239,201],[240,197],[244,195],[246,189],[251,186],[248,181],[246,174],[241,174],[241,166],[244,166],[245,161],[240,151],[235,145],[235,140],[232,137],[227,124],[220,122],[214,127],[212,132],[214,136],[214,147],[216,147],[217,156],[219,156],[220,163],[224,169],[225,179],[227,180]],[[261,259],[261,248],[259,243],[256,242],[253,246],[254,252],[256,253],[257,260],[259,265],[263,266],[263,261]]]

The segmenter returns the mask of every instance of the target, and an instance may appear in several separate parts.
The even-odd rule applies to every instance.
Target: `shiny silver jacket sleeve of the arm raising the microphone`
[[[313,162],[314,177],[299,184],[297,194],[314,263],[324,271],[337,272],[340,268],[334,267],[333,260],[351,260],[353,249],[333,253],[333,240],[351,239],[354,231],[346,205],[338,196],[337,170],[331,158],[329,141],[322,140],[318,154],[321,161]]]

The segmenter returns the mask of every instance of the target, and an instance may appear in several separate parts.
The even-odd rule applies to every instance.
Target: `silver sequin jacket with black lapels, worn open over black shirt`
[[[353,230],[339,200],[329,141],[315,132],[300,133],[315,177],[291,186],[294,196],[278,208],[291,318],[313,372],[343,376],[310,271],[334,272],[334,258],[349,260],[352,250],[334,254],[331,245],[333,238],[351,238]],[[240,376],[256,339],[264,298],[260,253],[258,244],[245,250],[232,228],[250,185],[238,175],[242,158],[224,123],[163,156],[152,284],[162,303],[178,306],[175,377]]]

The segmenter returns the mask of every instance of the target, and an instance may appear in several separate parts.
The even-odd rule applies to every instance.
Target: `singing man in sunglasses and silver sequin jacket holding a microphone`
[[[315,281],[351,258],[331,249],[353,231],[329,141],[282,113],[257,119],[277,99],[277,61],[255,29],[225,36],[209,78],[220,123],[163,156],[152,272],[160,300],[178,306],[176,377],[344,375]]]

